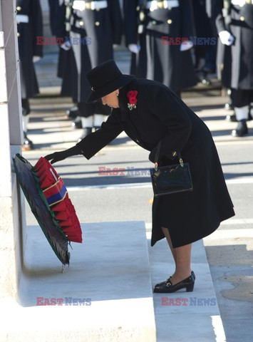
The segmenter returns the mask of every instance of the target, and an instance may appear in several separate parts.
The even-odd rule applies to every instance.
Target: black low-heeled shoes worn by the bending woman
[[[170,277],[171,278],[171,277]],[[192,271],[191,275],[180,281],[177,284],[172,285],[172,282],[168,278],[166,281],[162,281],[160,284],[155,285],[154,292],[160,294],[170,294],[172,292],[178,291],[180,289],[186,289],[187,292],[192,292],[195,283],[195,274]]]

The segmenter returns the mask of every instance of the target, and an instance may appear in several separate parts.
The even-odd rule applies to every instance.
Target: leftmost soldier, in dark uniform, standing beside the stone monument
[[[16,22],[19,40],[19,71],[21,80],[21,100],[24,128],[23,150],[30,150],[33,143],[27,138],[29,122],[29,98],[38,93],[38,83],[33,62],[42,57],[43,46],[37,45],[37,36],[42,36],[42,16],[39,0],[17,0]]]

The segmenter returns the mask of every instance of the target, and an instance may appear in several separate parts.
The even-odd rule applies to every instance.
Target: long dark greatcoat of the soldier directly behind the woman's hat
[[[100,0],[98,0],[100,1]],[[86,1],[86,3],[91,1]],[[83,103],[86,117],[96,114],[108,115],[108,110],[103,106],[86,105],[85,99],[90,92],[90,86],[86,80],[86,73],[98,64],[113,59],[113,44],[120,44],[123,30],[119,0],[107,0],[105,9],[91,10],[73,9],[71,11],[71,31],[66,32],[65,18],[62,19],[62,11],[66,12],[66,6],[60,6],[59,18],[53,21],[53,29],[57,36],[70,36],[72,41],[83,38],[83,43],[73,43],[71,53],[61,61],[63,66],[59,69],[63,76],[61,94],[71,96],[78,103]],[[86,42],[85,42],[86,40]]]

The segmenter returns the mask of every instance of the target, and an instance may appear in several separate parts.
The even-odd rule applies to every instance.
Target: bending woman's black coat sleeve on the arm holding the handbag
[[[160,156],[174,160],[182,152],[192,132],[192,122],[187,113],[189,108],[169,89],[159,89],[150,94],[150,98],[153,98],[151,110],[167,129],[162,138]]]

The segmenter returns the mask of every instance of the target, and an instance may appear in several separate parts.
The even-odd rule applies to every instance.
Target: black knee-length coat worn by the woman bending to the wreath
[[[128,109],[129,90],[137,90],[136,109]],[[173,247],[195,242],[211,234],[220,222],[234,215],[220,159],[210,130],[169,88],[155,81],[135,78],[120,89],[120,108],[113,109],[100,130],[77,145],[90,159],[123,130],[138,145],[153,150],[162,140],[162,165],[182,160],[190,163],[192,192],[155,197],[151,245],[169,229]]]

